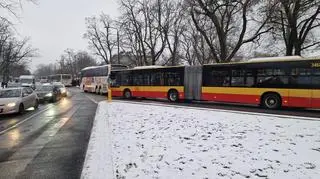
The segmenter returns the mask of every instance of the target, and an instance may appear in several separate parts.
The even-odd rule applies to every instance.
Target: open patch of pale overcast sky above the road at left
[[[38,0],[24,4],[21,19],[16,22],[20,36],[29,36],[40,57],[34,58],[30,69],[38,64],[53,63],[67,48],[86,50],[85,18],[101,12],[117,17],[116,0]]]

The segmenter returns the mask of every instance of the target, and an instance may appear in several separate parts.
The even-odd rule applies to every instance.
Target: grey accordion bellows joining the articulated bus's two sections
[[[187,100],[200,100],[202,67],[186,66],[184,71],[184,96]]]

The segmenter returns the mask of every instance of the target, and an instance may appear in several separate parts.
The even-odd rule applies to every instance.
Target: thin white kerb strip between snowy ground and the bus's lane
[[[199,109],[199,110],[210,110],[215,112],[229,112],[229,113],[236,113],[236,114],[248,114],[248,115],[256,115],[256,116],[267,116],[267,117],[278,117],[278,118],[290,118],[290,119],[299,119],[299,120],[309,120],[309,121],[320,121],[320,118],[316,117],[301,117],[301,116],[293,116],[293,115],[281,115],[281,114],[269,114],[265,112],[245,112],[245,111],[235,111],[235,110],[226,110],[226,109],[210,109],[205,107],[193,107],[193,106],[180,106],[174,104],[160,104],[156,102],[145,103],[145,102],[135,102],[135,101],[122,101],[122,100],[114,100],[116,102],[123,102],[123,103],[133,103],[133,104],[142,104],[142,105],[157,105],[157,106],[165,106],[165,107],[177,107],[177,108],[190,108],[190,109]]]

